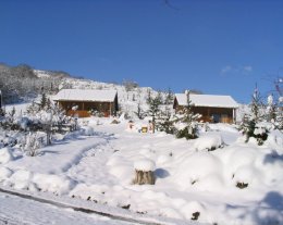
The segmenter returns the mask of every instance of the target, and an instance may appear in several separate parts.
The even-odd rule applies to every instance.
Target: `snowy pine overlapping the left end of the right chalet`
[[[193,112],[193,103],[189,99],[189,91],[185,91],[187,98],[187,104],[184,109],[176,115],[175,127],[176,127],[176,138],[195,139],[198,138],[198,120],[201,117],[200,114],[195,114]]]

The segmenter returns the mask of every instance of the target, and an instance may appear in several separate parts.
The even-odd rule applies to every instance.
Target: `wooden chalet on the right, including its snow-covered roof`
[[[202,122],[231,124],[236,120],[238,104],[231,96],[176,93],[173,104],[175,112],[187,105],[188,98],[193,104],[193,112],[199,113]]]

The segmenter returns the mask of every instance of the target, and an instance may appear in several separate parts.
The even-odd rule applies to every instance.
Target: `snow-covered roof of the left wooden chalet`
[[[112,102],[115,96],[116,90],[62,89],[53,97],[53,100]]]

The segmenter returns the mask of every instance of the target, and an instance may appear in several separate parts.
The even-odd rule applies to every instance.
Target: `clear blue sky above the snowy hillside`
[[[283,72],[283,1],[0,0],[0,62],[249,102]]]

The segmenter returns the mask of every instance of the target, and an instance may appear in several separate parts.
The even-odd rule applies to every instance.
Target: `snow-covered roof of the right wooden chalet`
[[[187,105],[185,93],[175,93],[179,105]],[[238,108],[238,103],[231,96],[195,95],[189,99],[195,107]]]

